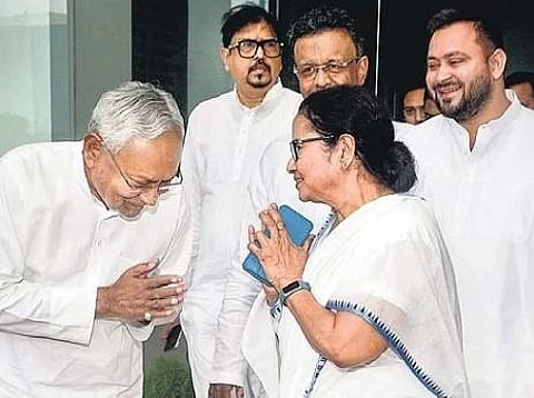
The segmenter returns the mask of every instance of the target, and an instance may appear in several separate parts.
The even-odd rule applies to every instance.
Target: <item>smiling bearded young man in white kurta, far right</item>
[[[431,20],[426,81],[444,116],[405,142],[451,252],[473,396],[532,397],[534,111],[504,90],[502,34],[484,19]]]

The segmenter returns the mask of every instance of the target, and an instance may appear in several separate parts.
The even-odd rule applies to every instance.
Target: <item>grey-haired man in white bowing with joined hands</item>
[[[0,159],[1,396],[141,396],[142,341],[191,256],[182,131],[169,93],[129,82],[81,142]]]

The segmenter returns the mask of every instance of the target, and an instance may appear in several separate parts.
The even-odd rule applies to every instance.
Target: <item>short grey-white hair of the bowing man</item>
[[[97,132],[112,153],[135,138],[152,140],[171,130],[184,133],[184,118],[175,99],[167,91],[139,81],[105,92],[88,126],[88,131]]]

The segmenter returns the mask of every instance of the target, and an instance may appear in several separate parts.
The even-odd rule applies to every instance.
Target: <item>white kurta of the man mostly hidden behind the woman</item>
[[[404,136],[411,131],[412,125],[395,122],[396,135]],[[314,223],[312,233],[317,235],[325,222],[330,208],[323,203],[303,202],[298,199],[293,176],[287,172],[287,162],[290,159],[289,141],[291,140],[291,125],[286,135],[273,141],[261,156],[258,172],[253,177],[249,187],[250,200],[244,210],[243,223],[256,223],[258,212],[269,203],[288,205],[304,215]],[[247,230],[241,230],[240,248],[236,250],[233,267],[226,285],[222,308],[219,315],[219,326],[216,339],[214,360],[214,380],[230,385],[244,386],[249,379],[246,360],[240,346],[243,330],[248,314],[261,286],[243,270],[241,263],[248,253]],[[254,389],[254,386],[251,387]],[[256,394],[257,390],[255,391]]]

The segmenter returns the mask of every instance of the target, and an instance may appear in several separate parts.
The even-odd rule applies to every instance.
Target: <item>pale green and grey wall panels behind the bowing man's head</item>
[[[0,155],[80,138],[98,96],[130,80],[131,0],[2,0]]]

